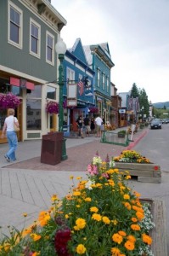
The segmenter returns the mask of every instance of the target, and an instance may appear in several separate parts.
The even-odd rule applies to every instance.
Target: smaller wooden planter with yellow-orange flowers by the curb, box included
[[[134,150],[124,150],[114,160],[120,171],[127,170],[131,176],[138,177],[139,182],[161,183],[161,166]]]

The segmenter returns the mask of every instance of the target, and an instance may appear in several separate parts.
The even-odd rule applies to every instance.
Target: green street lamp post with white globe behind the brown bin
[[[64,66],[63,61],[65,59],[66,44],[62,38],[59,38],[58,43],[55,45],[55,51],[59,57],[59,131],[63,132],[64,123],[64,109],[63,109],[63,86],[64,86]],[[65,148],[65,137],[62,143],[62,160],[67,159]]]

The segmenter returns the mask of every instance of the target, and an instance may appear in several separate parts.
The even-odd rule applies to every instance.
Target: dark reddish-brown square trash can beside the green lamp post
[[[41,162],[57,165],[62,160],[63,132],[49,132],[42,136]]]

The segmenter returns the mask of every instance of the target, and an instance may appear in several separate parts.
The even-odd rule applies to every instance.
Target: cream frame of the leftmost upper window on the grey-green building
[[[10,31],[11,31],[10,10],[11,10],[11,8],[14,9],[15,12],[18,12],[20,15],[20,26],[18,26],[19,27],[19,29],[18,29],[19,44],[17,44],[10,38]],[[16,6],[14,3],[12,3],[11,1],[8,1],[8,44],[12,44],[19,49],[23,49],[23,11],[18,6]]]

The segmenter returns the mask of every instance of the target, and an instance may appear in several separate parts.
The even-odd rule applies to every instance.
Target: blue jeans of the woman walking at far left
[[[7,156],[9,160],[14,161],[16,160],[15,157],[15,150],[18,146],[18,137],[15,131],[7,131],[7,139],[8,139],[8,152]]]

